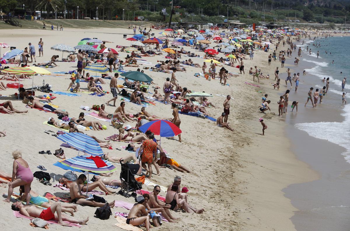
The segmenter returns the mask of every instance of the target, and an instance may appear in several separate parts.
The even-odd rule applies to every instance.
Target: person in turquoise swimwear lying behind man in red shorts
[[[24,186],[20,186],[20,194],[12,194],[15,197],[18,197],[20,201],[25,201],[27,194],[25,193]],[[30,188],[30,203],[35,204],[38,206],[41,206],[43,208],[49,208],[51,205],[53,205],[55,202],[52,200],[49,200],[48,198],[44,196],[40,196],[37,192],[33,191]],[[62,212],[69,212],[72,216],[74,216],[74,212],[78,211],[77,205],[70,204],[70,203],[61,203]]]

